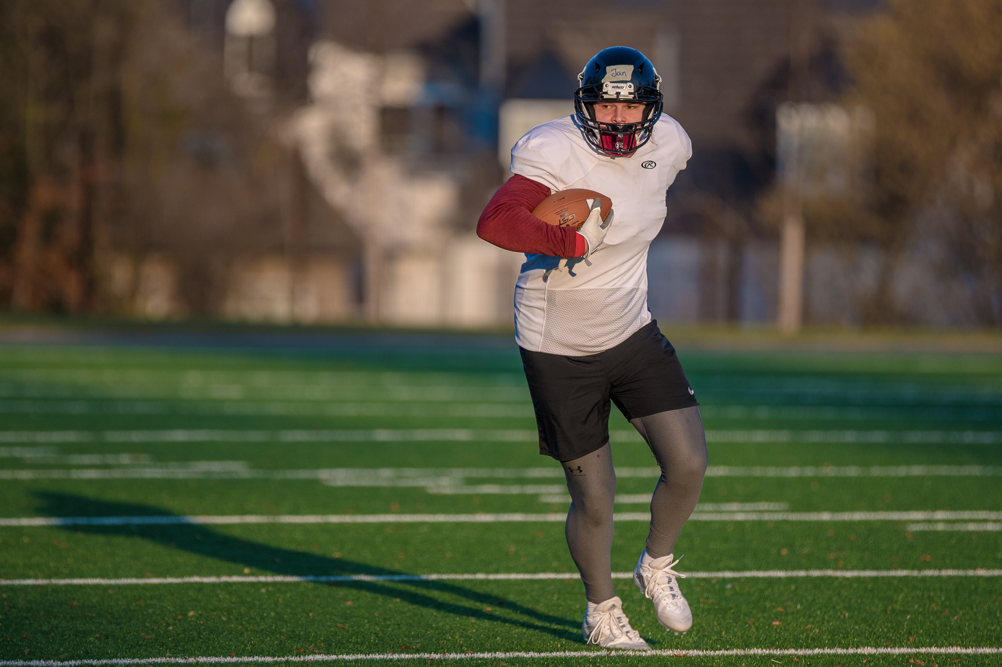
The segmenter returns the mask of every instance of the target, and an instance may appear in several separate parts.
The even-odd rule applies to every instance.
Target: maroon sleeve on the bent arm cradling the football
[[[515,174],[502,185],[480,214],[477,236],[499,248],[555,257],[580,257],[587,241],[573,227],[548,225],[532,210],[550,196],[541,183]]]

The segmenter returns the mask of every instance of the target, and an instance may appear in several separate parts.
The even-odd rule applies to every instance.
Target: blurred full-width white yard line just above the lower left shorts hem
[[[613,442],[642,442],[635,431],[611,431]],[[171,429],[161,431],[0,431],[0,442],[534,442],[535,430],[499,429],[355,429],[355,430],[226,430]],[[865,431],[865,430],[712,430],[706,441],[716,443],[1002,443],[1002,431]]]

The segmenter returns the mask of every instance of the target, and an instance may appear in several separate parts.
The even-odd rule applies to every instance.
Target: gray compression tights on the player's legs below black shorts
[[[650,501],[650,532],[647,553],[667,556],[675,546],[682,525],[692,513],[702,476],[706,472],[706,439],[696,407],[638,417],[630,423],[654,453],[661,476]],[[612,450],[601,449],[573,461],[564,461],[570,491],[567,512],[567,546],[581,572],[589,602],[604,602],[615,596],[612,586],[612,502],[616,495],[616,473]]]

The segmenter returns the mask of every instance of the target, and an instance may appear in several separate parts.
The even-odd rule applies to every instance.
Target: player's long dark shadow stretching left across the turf
[[[39,513],[47,516],[176,516],[158,507],[132,503],[116,503],[96,500],[68,493],[37,493],[41,501]],[[171,549],[183,549],[199,556],[208,556],[241,566],[266,570],[280,575],[304,576],[350,576],[354,574],[400,575],[400,570],[380,568],[366,563],[358,563],[345,558],[327,558],[319,554],[283,549],[269,544],[242,540],[216,533],[202,525],[167,526],[66,526],[66,530],[92,535],[124,535],[138,537],[161,544]],[[326,586],[326,583],[319,583]],[[566,618],[541,613],[516,602],[485,595],[464,586],[447,581],[348,581],[338,582],[338,586],[358,589],[389,598],[401,598],[413,605],[427,607],[456,616],[475,616],[538,632],[545,632],[560,639],[580,638],[580,625]],[[418,590],[407,590],[405,587]],[[449,593],[464,597],[477,605],[501,606],[508,612],[518,614],[522,619],[500,616],[483,611],[482,607],[471,608],[458,603],[436,600],[421,590]],[[540,625],[546,623],[548,625]],[[559,626],[559,627],[552,627]],[[569,630],[566,628],[573,628]]]

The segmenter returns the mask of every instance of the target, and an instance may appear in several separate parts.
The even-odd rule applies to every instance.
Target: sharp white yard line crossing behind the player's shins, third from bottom
[[[648,512],[617,512],[614,521],[650,521]],[[951,521],[999,520],[995,511],[911,512],[693,512],[689,521]],[[198,516],[18,517],[0,519],[0,526],[160,526],[318,523],[509,523],[559,522],[563,512],[479,514],[232,514]]]

